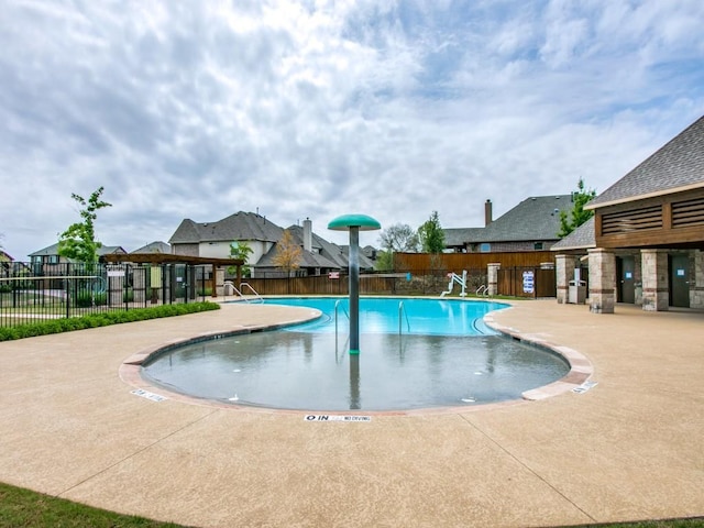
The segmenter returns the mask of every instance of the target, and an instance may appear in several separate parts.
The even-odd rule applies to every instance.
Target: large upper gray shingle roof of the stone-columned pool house
[[[704,187],[704,117],[598,195],[587,208],[697,184]]]

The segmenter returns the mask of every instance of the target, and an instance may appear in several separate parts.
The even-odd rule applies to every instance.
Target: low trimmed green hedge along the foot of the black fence
[[[145,321],[163,317],[185,316],[199,311],[219,310],[216,302],[188,302],[184,305],[163,305],[153,308],[134,308],[131,310],[113,310],[100,314],[90,314],[68,319],[51,319],[19,327],[0,328],[0,341],[34,338],[52,333],[85,330],[87,328],[107,327],[123,322]]]

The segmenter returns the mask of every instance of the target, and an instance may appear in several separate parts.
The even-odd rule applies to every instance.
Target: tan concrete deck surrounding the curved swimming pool
[[[546,527],[704,515],[701,312],[516,302],[494,312],[496,323],[581,352],[598,385],[365,422],[154,402],[118,374],[161,343],[305,317],[299,310],[224,305],[0,343],[0,481],[200,527]]]

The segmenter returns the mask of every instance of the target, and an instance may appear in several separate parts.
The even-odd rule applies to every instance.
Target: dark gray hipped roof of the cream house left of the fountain
[[[254,212],[237,212],[217,222],[196,223],[189,218],[183,220],[168,242],[188,244],[220,242],[223,240],[261,240],[276,242],[283,229]]]

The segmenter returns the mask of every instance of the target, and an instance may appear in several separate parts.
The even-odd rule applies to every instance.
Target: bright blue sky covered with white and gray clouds
[[[702,0],[2,0],[0,244],[105,186],[133,251],[184,218],[480,227],[598,191],[704,114]],[[363,233],[375,244],[378,233]]]

